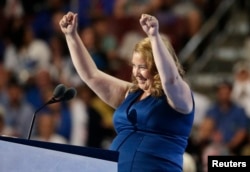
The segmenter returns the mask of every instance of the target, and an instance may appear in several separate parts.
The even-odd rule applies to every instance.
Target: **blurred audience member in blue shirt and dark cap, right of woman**
[[[247,138],[245,110],[232,101],[230,82],[223,81],[216,89],[216,101],[207,111],[199,139],[201,143],[222,145],[231,154],[239,155]]]

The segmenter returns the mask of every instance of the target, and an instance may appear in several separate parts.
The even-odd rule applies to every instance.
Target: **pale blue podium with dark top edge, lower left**
[[[0,136],[1,172],[117,172],[119,153]]]

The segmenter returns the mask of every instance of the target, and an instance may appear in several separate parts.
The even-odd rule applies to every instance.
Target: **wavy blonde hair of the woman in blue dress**
[[[185,72],[183,70],[182,65],[179,62],[178,57],[176,56],[174,48],[172,47],[168,38],[165,35],[161,35],[161,37],[169,53],[171,54],[171,57],[173,58],[175,62],[175,65],[178,69],[180,76],[183,78]],[[152,46],[148,37],[142,39],[140,42],[138,42],[135,45],[133,53],[135,52],[140,53],[142,55],[142,57],[146,61],[146,64],[150,73],[153,75],[153,85],[151,87],[151,95],[156,96],[156,97],[162,96],[164,92],[162,88],[161,78],[156,68],[155,62],[154,62]],[[134,77],[134,75],[132,75],[132,86],[130,87],[129,91],[134,92],[134,91],[137,91],[138,89],[139,89],[138,82],[136,78]]]

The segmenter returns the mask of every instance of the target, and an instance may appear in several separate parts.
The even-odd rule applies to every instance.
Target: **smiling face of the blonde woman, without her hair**
[[[133,53],[132,67],[132,73],[138,82],[139,88],[146,92],[150,91],[150,88],[153,83],[153,76],[141,53]]]

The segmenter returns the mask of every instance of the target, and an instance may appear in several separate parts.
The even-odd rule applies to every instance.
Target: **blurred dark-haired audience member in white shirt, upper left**
[[[10,28],[11,42],[5,50],[4,65],[25,83],[36,68],[49,66],[51,52],[44,40],[35,37],[31,26],[20,20],[14,20]]]

